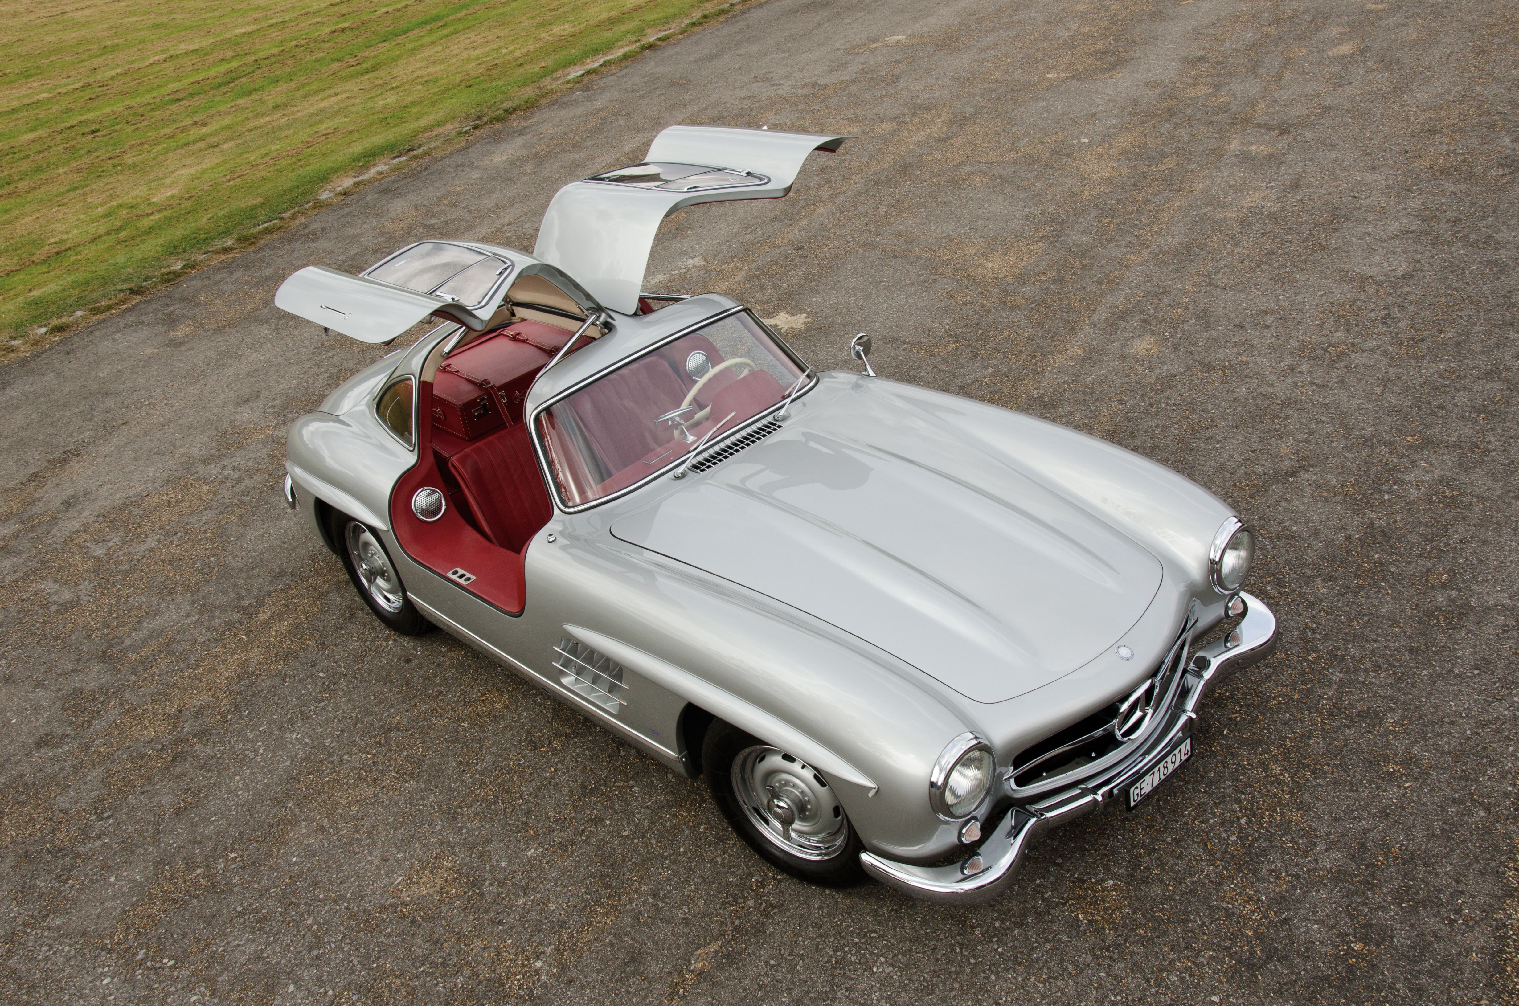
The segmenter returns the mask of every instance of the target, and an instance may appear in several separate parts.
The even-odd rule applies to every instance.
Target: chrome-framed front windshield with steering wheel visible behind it
[[[539,413],[559,495],[582,506],[641,482],[781,404],[801,375],[744,312],[629,360]]]

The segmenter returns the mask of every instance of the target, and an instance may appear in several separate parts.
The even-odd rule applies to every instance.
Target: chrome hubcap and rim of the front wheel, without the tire
[[[816,769],[756,745],[734,758],[734,795],[766,836],[791,856],[828,859],[849,840],[849,819]]]

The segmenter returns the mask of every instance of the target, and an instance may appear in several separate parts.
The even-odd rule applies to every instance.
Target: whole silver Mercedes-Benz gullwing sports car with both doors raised
[[[286,498],[396,632],[442,626],[676,772],[760,856],[945,903],[1133,807],[1276,620],[1217,497],[1112,444],[814,372],[659,222],[790,191],[846,137],[671,126],[565,185],[532,255],[410,245],[275,302],[387,342],[289,435]]]

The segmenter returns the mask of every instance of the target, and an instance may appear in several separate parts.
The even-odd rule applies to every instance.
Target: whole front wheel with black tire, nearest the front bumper
[[[773,761],[766,766],[770,758]],[[764,775],[767,772],[773,773]],[[849,815],[832,798],[822,773],[807,763],[732,723],[712,720],[702,742],[702,775],[712,802],[738,837],[784,872],[825,887],[851,887],[866,880],[860,866],[864,846]],[[775,783],[766,787],[770,801],[764,807],[753,799],[763,786],[756,784],[758,778]],[[747,790],[749,799],[740,790]],[[781,824],[787,815],[796,831]],[[807,836],[802,836],[804,828]]]

